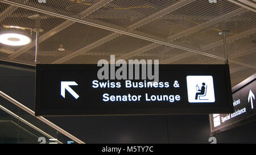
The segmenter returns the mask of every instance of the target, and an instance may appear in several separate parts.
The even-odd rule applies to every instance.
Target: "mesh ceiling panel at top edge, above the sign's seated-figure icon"
[[[220,1],[220,3],[191,1],[191,3],[180,7],[180,9],[174,10],[159,19],[137,28],[136,30],[165,39],[167,39],[167,37],[171,37],[170,39],[174,40],[176,38],[173,38],[172,35],[188,30],[189,28],[208,22],[218,16],[240,8],[239,6],[234,5],[227,7],[228,5],[230,5],[230,2],[226,1]],[[172,19],[172,16],[175,16],[176,18]],[[205,27],[207,27],[207,25]],[[177,36],[177,38],[179,37],[180,36]]]

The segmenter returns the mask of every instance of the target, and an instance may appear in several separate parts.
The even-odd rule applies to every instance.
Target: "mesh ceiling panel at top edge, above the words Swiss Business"
[[[98,23],[110,23],[123,28],[146,18],[149,15],[174,4],[176,1],[112,1],[105,7],[93,12],[89,18],[98,20]]]

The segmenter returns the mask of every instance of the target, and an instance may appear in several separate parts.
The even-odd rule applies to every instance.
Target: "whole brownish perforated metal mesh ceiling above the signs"
[[[42,28],[42,64],[96,64],[110,55],[162,64],[221,64],[225,52],[218,32],[228,30],[229,58],[238,62],[230,62],[232,84],[256,70],[255,10],[229,1],[0,0],[0,8],[1,32],[18,31],[34,40],[20,47],[0,44],[1,60],[35,65],[31,29]],[[60,45],[65,51],[57,50]]]

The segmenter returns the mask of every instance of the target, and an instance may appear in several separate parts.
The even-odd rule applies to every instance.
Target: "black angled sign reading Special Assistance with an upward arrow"
[[[245,79],[233,91],[232,114],[210,114],[210,131],[211,135],[226,131],[256,119],[256,73]]]

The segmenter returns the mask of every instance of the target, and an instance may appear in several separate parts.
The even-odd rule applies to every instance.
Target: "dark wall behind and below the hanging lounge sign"
[[[34,110],[35,73],[0,67],[0,90]],[[0,104],[11,104],[0,97]],[[17,108],[10,106],[10,110]],[[1,114],[2,110],[0,110]],[[1,117],[1,115],[0,115]],[[209,143],[208,115],[47,117],[85,143]],[[256,122],[222,132],[217,143],[256,143]]]

